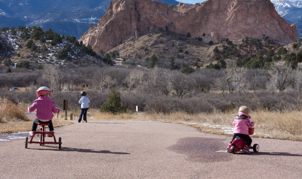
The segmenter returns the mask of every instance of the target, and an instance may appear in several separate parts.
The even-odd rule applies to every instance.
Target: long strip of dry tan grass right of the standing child
[[[113,115],[110,113],[94,112],[90,119],[96,120],[152,120],[176,123],[191,123],[191,126],[198,128],[202,132],[213,134],[225,134],[217,131],[219,128],[213,128],[213,125],[233,127],[234,117],[237,111],[214,113],[188,114],[185,112],[173,112],[170,114],[159,113],[122,113]],[[300,111],[251,111],[251,121],[255,122],[255,133],[251,137],[274,138],[282,140],[302,141],[302,113]],[[197,123],[197,124],[195,124]],[[211,126],[201,125],[203,123]]]

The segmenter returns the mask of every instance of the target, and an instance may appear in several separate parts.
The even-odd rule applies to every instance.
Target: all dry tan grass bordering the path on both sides
[[[12,132],[27,132],[31,129],[34,119],[28,119],[25,115],[27,106],[24,104],[14,105],[5,99],[1,99],[0,110],[2,122],[0,123],[0,133]],[[6,109],[6,110],[4,110]],[[7,111],[4,113],[4,111]],[[68,111],[68,120],[65,119],[65,113],[61,112],[60,116],[53,118],[54,127],[69,125],[73,122],[70,120],[70,114],[73,113],[73,120],[77,120],[80,109],[76,111]],[[13,117],[12,115],[14,114]],[[269,137],[282,140],[302,141],[302,118],[300,111],[285,111],[285,112],[269,112],[265,109],[252,111],[252,121],[255,122],[255,134],[252,137]],[[20,119],[19,116],[23,116]],[[25,116],[25,117],[24,117]],[[184,123],[199,129],[202,132],[218,134],[225,134],[222,127],[233,127],[232,122],[236,116],[236,111],[231,112],[214,112],[214,113],[200,113],[188,114],[184,112],[174,112],[172,114],[146,114],[146,113],[122,113],[113,115],[111,113],[100,113],[98,109],[89,109],[87,119],[89,120],[141,120],[141,121],[163,121]],[[210,124],[202,125],[204,123]],[[214,125],[221,126],[221,128],[213,128]]]

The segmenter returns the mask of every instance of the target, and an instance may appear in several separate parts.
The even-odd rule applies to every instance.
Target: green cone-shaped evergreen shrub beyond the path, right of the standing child
[[[109,101],[104,102],[100,108],[101,112],[112,112],[117,114],[119,112],[126,112],[126,106],[122,105],[120,92],[116,91],[114,88],[111,90],[111,93],[108,95]]]

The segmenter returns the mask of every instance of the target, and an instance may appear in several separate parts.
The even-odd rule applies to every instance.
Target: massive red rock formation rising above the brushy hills
[[[246,36],[288,44],[297,40],[296,26],[278,15],[270,0],[207,0],[193,6],[167,5],[151,0],[113,0],[97,26],[79,39],[93,50],[108,51],[134,36],[136,31],[165,26],[169,31],[203,41],[222,38],[241,40]],[[206,36],[203,37],[203,33]]]

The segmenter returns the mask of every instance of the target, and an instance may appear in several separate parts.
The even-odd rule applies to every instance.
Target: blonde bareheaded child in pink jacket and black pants
[[[246,145],[242,149],[242,151],[246,153],[251,153],[249,151],[249,147],[252,144],[252,139],[249,137],[249,127],[254,126],[254,122],[250,121],[251,116],[249,116],[249,108],[246,106],[241,106],[238,110],[238,114],[233,121],[234,132],[233,138],[227,147],[227,151],[231,152],[231,144],[236,137],[243,138],[246,141]]]

